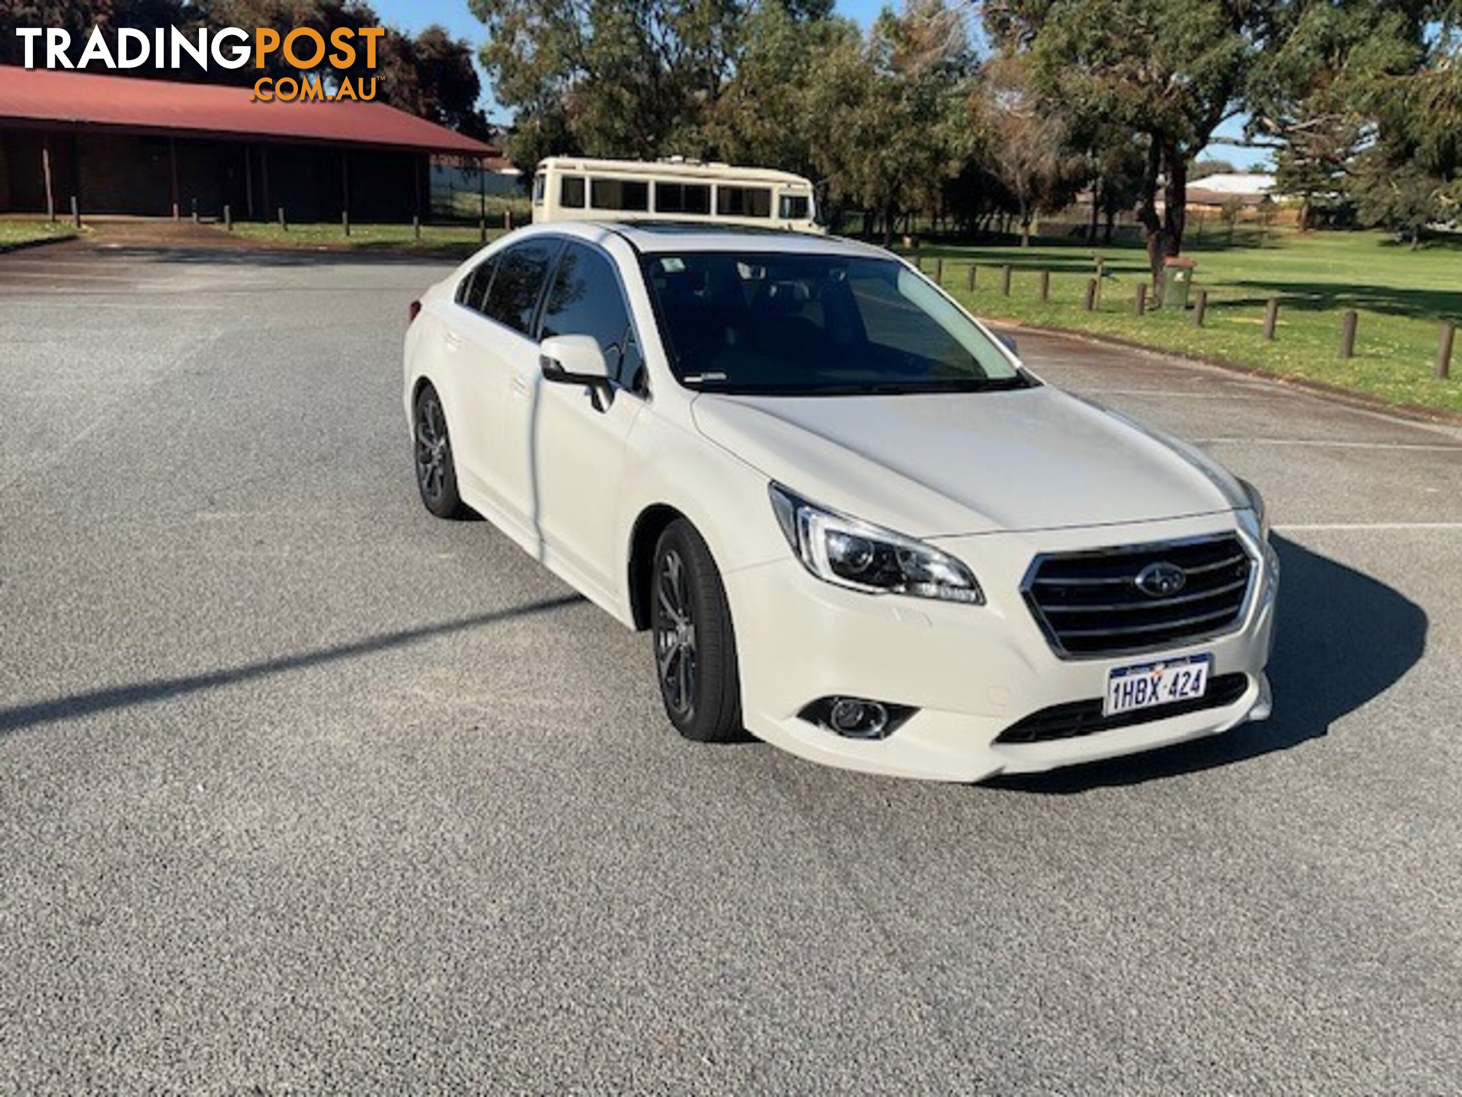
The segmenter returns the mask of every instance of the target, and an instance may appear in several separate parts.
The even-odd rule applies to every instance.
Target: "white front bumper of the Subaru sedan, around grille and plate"
[[[1235,531],[1260,560],[1238,627],[1158,654],[1060,658],[1020,595],[1042,551],[1140,544]],[[870,595],[822,582],[788,556],[728,572],[747,728],[829,765],[896,777],[978,781],[1148,750],[1269,715],[1278,562],[1234,515],[1101,529],[942,538],[984,587],[985,606]],[[1039,743],[999,743],[1003,730],[1053,705],[1101,698],[1113,667],[1206,652],[1212,676],[1247,687],[1218,708]],[[918,711],[887,739],[841,737],[798,717],[808,702],[854,696]]]

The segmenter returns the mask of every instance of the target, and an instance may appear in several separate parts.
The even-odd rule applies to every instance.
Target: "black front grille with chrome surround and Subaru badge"
[[[1023,591],[1058,655],[1120,655],[1228,632],[1253,573],[1238,537],[1219,534],[1039,556]]]

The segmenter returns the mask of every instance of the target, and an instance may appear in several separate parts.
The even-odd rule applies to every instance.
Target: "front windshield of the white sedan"
[[[1035,382],[893,259],[645,256],[671,367],[711,392],[977,392]]]

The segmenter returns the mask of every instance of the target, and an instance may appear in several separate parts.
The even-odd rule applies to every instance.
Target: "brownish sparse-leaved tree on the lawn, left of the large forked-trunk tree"
[[[1072,124],[1037,101],[1029,60],[1020,56],[985,66],[971,110],[987,170],[1010,195],[1020,246],[1029,247],[1035,214],[1067,205],[1085,176],[1085,162],[1070,151]]]

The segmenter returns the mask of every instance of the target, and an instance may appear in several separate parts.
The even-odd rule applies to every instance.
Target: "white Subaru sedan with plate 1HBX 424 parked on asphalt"
[[[648,630],[689,739],[975,781],[1269,715],[1259,493],[887,252],[545,224],[411,313],[423,503]]]

